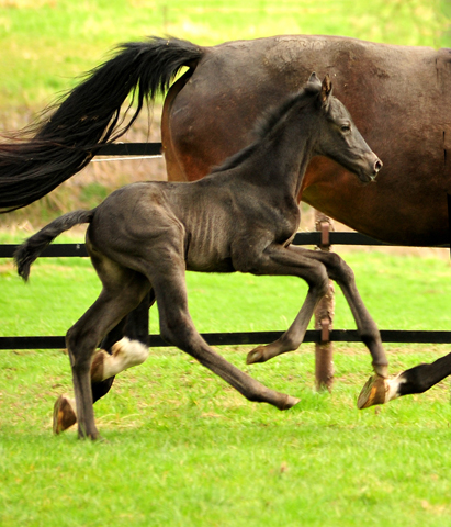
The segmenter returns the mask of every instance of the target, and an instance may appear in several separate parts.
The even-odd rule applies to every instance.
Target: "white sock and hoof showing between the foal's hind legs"
[[[128,337],[122,338],[111,348],[112,355],[103,354],[103,380],[117,375],[121,371],[127,370],[133,366],[142,365],[149,356],[149,348],[139,340],[131,340]]]

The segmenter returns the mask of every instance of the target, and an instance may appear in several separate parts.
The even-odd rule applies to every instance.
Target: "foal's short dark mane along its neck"
[[[296,93],[291,93],[277,106],[266,110],[260,117],[257,119],[251,135],[255,141],[228,157],[222,165],[213,167],[210,173],[223,172],[238,167],[241,162],[248,159],[260,146],[261,142],[275,128],[275,126],[286,116],[290,110],[298,102],[307,100],[306,96],[317,94],[319,88],[312,82],[307,83],[305,88]]]

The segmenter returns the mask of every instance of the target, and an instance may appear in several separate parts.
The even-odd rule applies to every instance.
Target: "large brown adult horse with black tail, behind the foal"
[[[150,38],[120,47],[29,138],[0,145],[0,208],[24,206],[81,170],[133,124],[145,98],[166,90],[183,66],[188,71],[170,88],[162,115],[170,180],[205,176],[251,141],[249,130],[262,109],[293,91],[309,71],[329,72],[336,94],[385,169],[377,184],[363,189],[335,161],[316,157],[300,189],[302,199],[385,242],[449,243],[451,51],[335,36],[278,36],[214,47]],[[120,109],[129,92],[138,105],[132,123],[121,128]],[[424,391],[451,373],[451,358],[441,366],[439,373],[432,368],[426,384],[404,388]]]

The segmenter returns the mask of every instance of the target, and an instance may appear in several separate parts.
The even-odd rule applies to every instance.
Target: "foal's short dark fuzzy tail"
[[[69,231],[69,228],[81,223],[91,223],[94,211],[95,209],[68,212],[26,239],[14,253],[19,276],[26,281],[30,276],[30,267],[41,253],[65,231]]]

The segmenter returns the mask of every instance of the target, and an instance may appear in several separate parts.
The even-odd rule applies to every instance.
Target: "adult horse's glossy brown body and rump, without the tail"
[[[449,243],[451,49],[292,35],[202,51],[166,98],[161,134],[169,179],[204,177],[248,144],[262,109],[308,71],[327,72],[384,171],[367,189],[346,168],[317,157],[298,198],[384,242]]]

